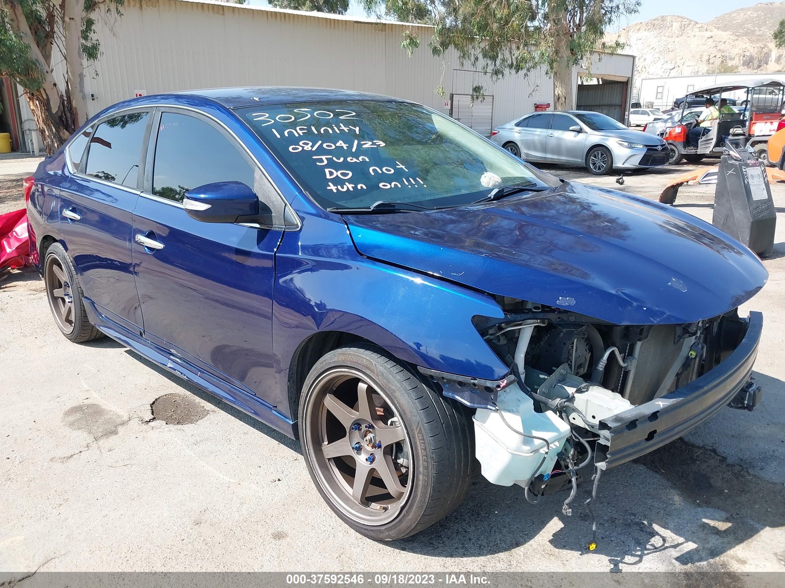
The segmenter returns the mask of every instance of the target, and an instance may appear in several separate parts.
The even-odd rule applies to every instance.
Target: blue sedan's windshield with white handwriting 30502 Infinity
[[[558,180],[417,104],[298,102],[236,112],[324,209],[378,201],[465,205],[509,185]]]

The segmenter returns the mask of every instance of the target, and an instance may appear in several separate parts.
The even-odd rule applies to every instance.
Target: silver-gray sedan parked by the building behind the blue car
[[[633,131],[599,112],[527,114],[496,127],[491,140],[527,162],[586,165],[595,176],[668,162],[659,136]]]

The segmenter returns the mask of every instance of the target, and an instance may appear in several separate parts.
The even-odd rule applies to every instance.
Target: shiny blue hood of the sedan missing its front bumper
[[[750,299],[768,278],[753,252],[710,224],[581,183],[481,205],[344,219],[358,251],[374,260],[619,325],[711,318]]]

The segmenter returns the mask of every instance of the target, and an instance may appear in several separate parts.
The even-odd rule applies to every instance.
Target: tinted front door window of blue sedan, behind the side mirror
[[[164,112],[153,161],[152,193],[181,202],[206,183],[242,182],[254,189],[254,167],[218,129],[188,114]]]

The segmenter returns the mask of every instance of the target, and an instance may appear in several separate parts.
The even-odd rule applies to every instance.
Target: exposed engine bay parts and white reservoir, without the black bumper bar
[[[719,365],[747,332],[736,309],[685,325],[613,325],[516,299],[498,302],[505,318],[476,317],[475,325],[515,382],[496,390],[480,386],[485,404],[466,400],[480,390],[461,397],[445,387],[444,394],[476,408],[476,457],[484,477],[520,485],[531,503],[571,488],[565,514],[579,470],[592,462],[597,490],[610,445],[604,419],[684,387]]]

